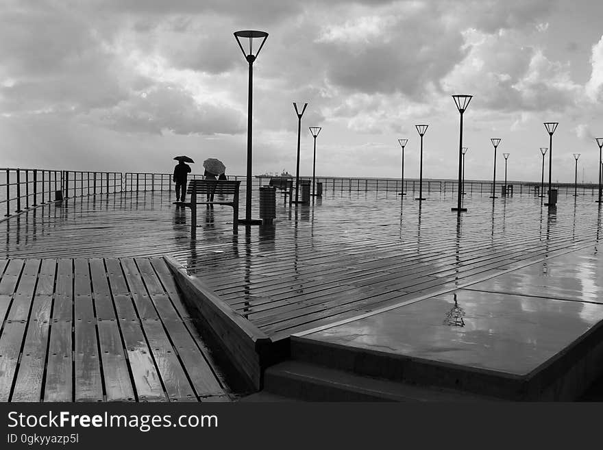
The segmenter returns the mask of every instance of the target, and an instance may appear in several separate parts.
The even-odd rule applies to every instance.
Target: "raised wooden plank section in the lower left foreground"
[[[229,401],[160,258],[0,260],[0,401]]]

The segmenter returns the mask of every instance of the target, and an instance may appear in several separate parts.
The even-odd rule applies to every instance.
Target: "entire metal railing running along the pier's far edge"
[[[203,175],[191,174],[190,179],[200,179]],[[228,175],[228,179],[241,180],[241,189],[246,188],[246,177]],[[253,188],[267,185],[271,177],[258,176],[253,179]],[[300,177],[310,179],[311,177]],[[295,186],[295,179],[293,179]],[[400,179],[360,178],[360,177],[316,177],[323,184],[323,195],[343,195],[361,192],[400,192]],[[510,182],[514,195],[540,195],[537,182]],[[491,195],[492,182],[466,181],[465,193],[472,195]],[[497,182],[495,195],[502,195],[502,182]],[[545,186],[545,190],[546,190]],[[573,183],[557,183],[554,188],[558,195],[574,195]],[[145,172],[100,172],[100,171],[64,171],[43,168],[0,168],[0,211],[4,216],[19,214],[24,210],[36,208],[58,199],[86,197],[116,192],[154,192],[174,189],[171,173]],[[404,192],[419,192],[418,179],[405,179]],[[423,180],[423,192],[454,194],[458,192],[458,182],[454,180]],[[582,195],[598,194],[596,184],[578,184]],[[1,213],[0,213],[1,214]]]

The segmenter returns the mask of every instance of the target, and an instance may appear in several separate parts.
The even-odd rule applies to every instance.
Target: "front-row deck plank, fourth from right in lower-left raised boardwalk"
[[[134,401],[124,349],[116,321],[99,321],[99,344],[107,401]]]

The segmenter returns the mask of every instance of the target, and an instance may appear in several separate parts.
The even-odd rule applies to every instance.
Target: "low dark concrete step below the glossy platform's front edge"
[[[305,401],[494,401],[289,360],[264,373],[264,391]]]

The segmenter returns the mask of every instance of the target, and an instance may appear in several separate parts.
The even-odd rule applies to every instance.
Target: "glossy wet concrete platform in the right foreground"
[[[603,368],[602,266],[595,247],[550,258],[298,334],[292,352],[298,360],[409,384],[514,400],[578,399]]]

